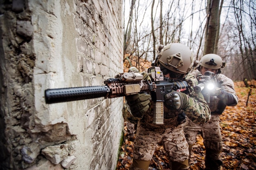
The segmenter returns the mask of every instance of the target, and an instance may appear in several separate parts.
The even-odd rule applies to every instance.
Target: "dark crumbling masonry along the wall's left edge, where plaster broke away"
[[[33,131],[33,32],[31,11],[24,1],[1,2],[0,170],[28,168],[43,157],[43,148],[75,139],[65,123],[54,124],[47,132]]]

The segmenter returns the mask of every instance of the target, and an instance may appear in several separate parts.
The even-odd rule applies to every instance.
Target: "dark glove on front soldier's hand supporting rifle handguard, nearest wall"
[[[149,108],[150,95],[146,93],[128,95],[125,97],[134,117],[142,118]]]

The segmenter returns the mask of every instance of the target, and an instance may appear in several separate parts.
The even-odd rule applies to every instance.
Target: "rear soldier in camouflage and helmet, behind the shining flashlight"
[[[204,75],[205,72],[212,72],[217,90],[209,92],[210,100],[209,107],[211,109],[211,119],[206,124],[195,124],[187,119],[183,124],[186,140],[189,144],[191,153],[192,145],[196,142],[198,132],[202,131],[204,146],[206,150],[205,170],[220,170],[222,161],[220,160],[220,152],[222,150],[222,137],[220,132],[220,117],[219,115],[225,110],[226,106],[236,106],[238,97],[234,90],[234,82],[223,74],[220,74],[220,68],[223,68],[225,63],[222,58],[216,54],[207,54],[200,60],[198,70],[192,74]]]

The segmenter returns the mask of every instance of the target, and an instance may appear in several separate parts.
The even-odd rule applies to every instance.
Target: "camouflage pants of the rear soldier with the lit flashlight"
[[[189,145],[196,142],[198,132],[202,132],[204,146],[206,150],[211,152],[211,159],[217,160],[220,158],[222,150],[222,137],[220,132],[220,117],[219,115],[211,115],[211,119],[205,124],[195,124],[188,118],[183,124],[186,140]]]

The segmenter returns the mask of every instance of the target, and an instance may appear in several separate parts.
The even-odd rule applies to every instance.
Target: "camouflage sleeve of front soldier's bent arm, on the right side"
[[[204,124],[211,118],[211,110],[204,100],[201,92],[196,93],[193,89],[198,84],[198,80],[192,74],[186,76],[189,84],[189,106],[184,110],[186,116],[196,124]]]

